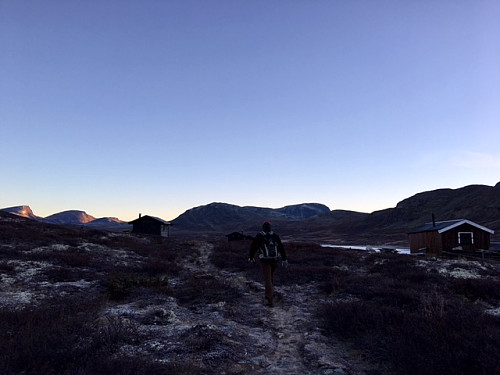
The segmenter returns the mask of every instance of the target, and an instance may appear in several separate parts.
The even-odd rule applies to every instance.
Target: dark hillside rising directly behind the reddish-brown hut
[[[346,241],[365,238],[367,241],[402,243],[412,229],[436,220],[466,218],[495,231],[493,240],[500,239],[500,183],[494,187],[470,185],[459,189],[438,189],[418,193],[399,202],[395,208],[375,211],[360,216],[357,213],[343,215],[343,220],[333,220],[335,213],[313,220],[311,227],[318,236],[338,233]],[[349,221],[350,220],[350,221]],[[332,223],[324,229],[324,222]],[[323,230],[316,230],[317,225]]]

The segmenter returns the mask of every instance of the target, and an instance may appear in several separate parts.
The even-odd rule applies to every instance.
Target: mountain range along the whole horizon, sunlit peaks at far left
[[[29,206],[3,209],[30,219],[96,229],[129,230],[117,218],[96,219],[84,211],[64,211],[46,218],[36,216]],[[469,185],[415,194],[396,207],[372,213],[331,211],[319,203],[302,203],[278,209],[228,203],[210,203],[187,210],[176,219],[172,234],[255,234],[269,220],[284,238],[329,241],[339,244],[406,244],[407,233],[432,220],[468,219],[495,231],[500,240],[500,182],[495,186]]]

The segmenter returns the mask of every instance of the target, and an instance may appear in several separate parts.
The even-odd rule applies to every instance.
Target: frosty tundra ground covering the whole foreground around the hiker
[[[498,262],[248,246],[1,218],[0,373],[500,373]]]

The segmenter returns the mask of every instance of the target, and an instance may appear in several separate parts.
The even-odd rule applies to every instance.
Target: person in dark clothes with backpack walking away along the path
[[[266,305],[273,307],[274,271],[276,271],[280,257],[284,267],[288,266],[288,260],[281,239],[271,230],[269,221],[262,224],[262,232],[259,232],[252,241],[248,258],[250,262],[255,262],[254,257],[257,252],[259,252],[264,275]]]

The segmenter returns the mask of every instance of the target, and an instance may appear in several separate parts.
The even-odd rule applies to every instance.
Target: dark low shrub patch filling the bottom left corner
[[[126,356],[123,345],[141,333],[119,317],[102,317],[103,296],[78,295],[47,300],[25,310],[0,310],[0,373],[49,375],[200,374],[195,365]]]

